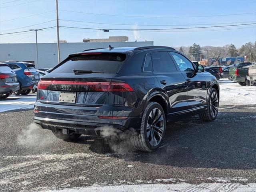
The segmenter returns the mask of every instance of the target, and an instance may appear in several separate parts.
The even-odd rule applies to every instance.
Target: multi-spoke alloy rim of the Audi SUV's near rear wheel
[[[147,138],[151,146],[157,146],[164,134],[164,117],[160,109],[154,108],[147,121]]]

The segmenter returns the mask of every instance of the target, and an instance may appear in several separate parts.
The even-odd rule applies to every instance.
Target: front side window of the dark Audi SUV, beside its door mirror
[[[170,52],[170,54],[176,61],[180,71],[194,71],[192,63],[186,57],[176,52]]]

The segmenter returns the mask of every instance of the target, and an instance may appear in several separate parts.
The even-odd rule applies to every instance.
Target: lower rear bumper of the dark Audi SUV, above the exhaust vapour
[[[34,117],[34,122],[39,124],[43,129],[62,130],[75,132],[77,134],[86,134],[92,136],[105,136],[104,133],[120,134],[129,130],[129,126],[134,122],[138,122],[140,118],[130,117],[125,120],[98,120],[97,122],[84,122],[72,120],[49,119],[42,117]],[[140,124],[137,124],[139,126]],[[131,126],[132,127],[132,126]],[[134,127],[136,129],[136,127]]]

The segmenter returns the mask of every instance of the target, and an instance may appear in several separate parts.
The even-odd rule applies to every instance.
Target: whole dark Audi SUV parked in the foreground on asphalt
[[[43,76],[34,122],[63,140],[132,130],[134,147],[152,152],[167,123],[213,121],[218,103],[216,78],[174,48],[110,46],[70,54]]]

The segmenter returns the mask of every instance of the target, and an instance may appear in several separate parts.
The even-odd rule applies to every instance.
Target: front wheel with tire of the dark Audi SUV
[[[207,109],[199,113],[199,118],[203,121],[213,121],[216,119],[219,108],[218,92],[212,88],[207,102]]]

